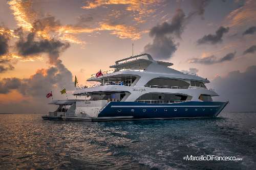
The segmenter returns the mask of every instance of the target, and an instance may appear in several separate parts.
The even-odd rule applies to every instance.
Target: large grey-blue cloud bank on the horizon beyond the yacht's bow
[[[216,100],[229,101],[230,111],[256,111],[256,65],[249,66],[245,72],[232,71],[226,77],[212,80],[213,87],[220,96]]]

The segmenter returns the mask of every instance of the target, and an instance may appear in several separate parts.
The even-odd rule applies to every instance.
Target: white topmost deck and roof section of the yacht
[[[173,63],[153,60],[149,54],[141,54],[129,58],[124,58],[111,65],[113,70],[103,71],[103,76],[91,75],[87,81],[103,82],[103,80],[115,81],[141,77],[165,77],[182,80],[194,80],[209,83],[207,79],[196,74],[185,74],[173,68],[169,68]]]

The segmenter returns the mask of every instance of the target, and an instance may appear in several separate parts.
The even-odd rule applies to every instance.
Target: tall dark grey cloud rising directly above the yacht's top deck
[[[180,38],[186,19],[183,10],[177,9],[171,23],[163,22],[161,25],[153,27],[150,31],[150,36],[154,37],[153,42],[144,46],[144,52],[158,59],[172,57],[179,45],[175,43],[173,35]]]

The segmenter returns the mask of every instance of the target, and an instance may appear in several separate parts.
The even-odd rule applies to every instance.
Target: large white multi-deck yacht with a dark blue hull
[[[91,75],[91,87],[77,88],[73,95],[84,100],[53,101],[69,104],[66,120],[136,120],[216,117],[228,102],[207,89],[209,80],[171,68],[173,63],[156,61],[149,54],[124,58],[112,70]],[[80,99],[79,98],[79,99]]]

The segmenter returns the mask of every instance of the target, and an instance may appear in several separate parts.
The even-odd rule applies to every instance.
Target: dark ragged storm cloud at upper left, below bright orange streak
[[[35,41],[35,33],[29,33],[26,39],[20,36],[19,41],[16,43],[16,48],[20,55],[26,57],[29,55],[48,53],[51,64],[59,62],[59,53],[66,50],[69,46],[69,43],[62,43],[55,39],[41,39]]]

